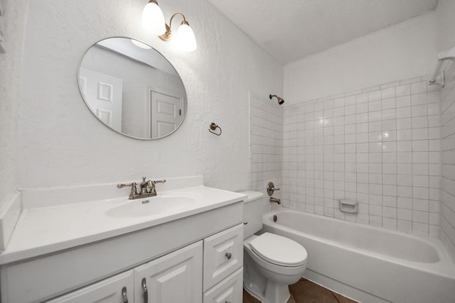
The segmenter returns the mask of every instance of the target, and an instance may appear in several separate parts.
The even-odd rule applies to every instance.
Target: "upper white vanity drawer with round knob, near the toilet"
[[[243,224],[204,239],[204,292],[243,266]]]

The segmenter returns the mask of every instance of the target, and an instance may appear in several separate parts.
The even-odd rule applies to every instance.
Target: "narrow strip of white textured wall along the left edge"
[[[6,53],[0,54],[0,208],[18,188],[18,99],[26,1],[2,0],[2,4]]]

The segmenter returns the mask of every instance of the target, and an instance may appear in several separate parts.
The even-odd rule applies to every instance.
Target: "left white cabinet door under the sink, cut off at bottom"
[[[129,270],[114,277],[70,292],[47,303],[124,303],[134,302],[134,272]]]

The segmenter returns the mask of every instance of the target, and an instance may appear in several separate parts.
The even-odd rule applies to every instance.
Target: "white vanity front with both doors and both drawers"
[[[238,224],[47,303],[242,302],[242,266],[243,224]]]

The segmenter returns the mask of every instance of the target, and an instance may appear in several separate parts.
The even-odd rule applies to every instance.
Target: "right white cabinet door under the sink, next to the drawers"
[[[202,302],[202,251],[199,241],[134,268],[135,302]]]

